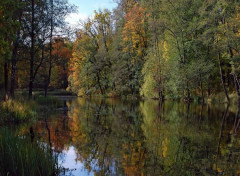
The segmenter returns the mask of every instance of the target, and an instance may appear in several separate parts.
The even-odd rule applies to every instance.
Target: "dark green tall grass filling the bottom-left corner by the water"
[[[49,176],[56,174],[56,166],[57,158],[47,145],[0,130],[0,175]]]

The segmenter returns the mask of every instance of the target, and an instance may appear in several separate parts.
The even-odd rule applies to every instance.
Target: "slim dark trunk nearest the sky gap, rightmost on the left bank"
[[[49,50],[49,69],[48,69],[48,78],[45,86],[45,97],[48,93],[48,87],[51,81],[52,74],[52,39],[53,39],[53,0],[51,0],[51,29],[50,29],[50,50]]]

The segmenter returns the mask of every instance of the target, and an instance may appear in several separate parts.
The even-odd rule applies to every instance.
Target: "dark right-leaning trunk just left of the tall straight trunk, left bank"
[[[19,46],[19,38],[20,38],[20,30],[17,31],[17,39],[14,42],[14,48],[12,51],[12,70],[11,70],[11,88],[10,95],[14,97],[14,89],[15,89],[15,74],[16,74],[16,65],[17,65],[17,51]]]

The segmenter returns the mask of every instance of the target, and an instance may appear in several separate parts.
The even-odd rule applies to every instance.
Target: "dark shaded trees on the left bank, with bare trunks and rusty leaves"
[[[67,88],[72,42],[65,17],[75,10],[66,0],[0,2],[0,85],[5,97],[16,89]]]

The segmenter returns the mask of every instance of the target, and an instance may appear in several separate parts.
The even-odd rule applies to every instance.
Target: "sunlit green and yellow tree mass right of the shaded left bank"
[[[127,4],[120,3],[112,14],[95,12],[95,18],[79,31],[68,90],[82,96],[191,99],[206,96],[207,89],[208,93],[221,91],[223,72],[229,82],[230,73],[238,79],[239,26],[233,25],[239,20],[234,13],[239,13],[238,3],[150,0]],[[219,12],[220,8],[224,10]],[[214,23],[221,13],[229,25]],[[224,70],[220,75],[219,50]],[[233,88],[232,82],[228,89]]]

